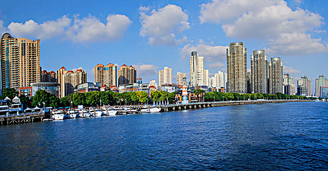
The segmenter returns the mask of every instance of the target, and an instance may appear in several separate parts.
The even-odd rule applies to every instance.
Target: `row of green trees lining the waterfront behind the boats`
[[[217,91],[205,92],[201,89],[194,90],[194,94],[198,102],[219,102],[219,101],[241,101],[241,100],[288,100],[288,99],[303,99],[312,100],[312,98],[299,95],[285,95],[283,93],[276,94],[241,94],[241,93],[221,93]],[[8,97],[13,99],[18,96],[23,104],[23,108],[29,107],[98,107],[101,105],[120,106],[120,105],[152,105],[152,104],[169,104],[175,103],[175,92],[168,93],[167,91],[152,91],[150,96],[145,91],[123,92],[117,93],[112,91],[91,91],[85,93],[73,93],[66,97],[58,98],[55,95],[39,90],[36,94],[28,98],[24,95],[19,96],[19,92],[15,88],[5,88],[2,92],[2,99]]]

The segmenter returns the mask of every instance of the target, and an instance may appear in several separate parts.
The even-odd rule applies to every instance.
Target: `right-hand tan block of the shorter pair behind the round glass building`
[[[74,93],[77,85],[87,83],[87,73],[83,69],[75,72],[69,70],[65,74],[65,96]]]

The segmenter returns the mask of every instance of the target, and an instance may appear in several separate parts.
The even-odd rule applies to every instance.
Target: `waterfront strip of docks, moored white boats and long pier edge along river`
[[[51,107],[34,109],[25,109],[25,112],[18,112],[18,114],[7,114],[0,116],[0,125],[14,125],[33,122],[43,122],[51,120],[64,120],[76,117],[90,117],[90,116],[109,116],[109,115],[127,115],[137,113],[154,113],[154,112],[168,112],[186,109],[199,109],[206,107],[225,107],[236,105],[250,105],[250,104],[264,104],[264,103],[287,103],[287,102],[311,102],[310,100],[255,100],[255,101],[230,101],[230,102],[203,102],[191,104],[172,104],[165,106],[130,106],[130,107],[102,107],[100,109],[83,110],[51,110]],[[12,110],[12,109],[7,109]],[[28,112],[26,112],[28,111]],[[33,111],[33,112],[31,112]],[[2,111],[3,113],[3,111]],[[9,113],[9,112],[7,112]]]

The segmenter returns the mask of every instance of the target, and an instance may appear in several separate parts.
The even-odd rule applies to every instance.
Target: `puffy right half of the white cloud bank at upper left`
[[[81,43],[115,41],[123,37],[131,23],[129,17],[120,14],[108,15],[106,24],[90,15],[75,19],[66,35],[73,42]]]

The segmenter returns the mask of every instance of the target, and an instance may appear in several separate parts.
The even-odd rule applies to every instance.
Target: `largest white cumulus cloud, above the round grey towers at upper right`
[[[312,52],[313,47],[319,47],[314,53],[327,50],[327,43],[312,38],[310,34],[311,31],[324,32],[316,31],[324,24],[324,18],[307,9],[293,10],[285,0],[213,0],[200,6],[201,23],[221,24],[222,30],[230,37],[268,40],[268,50],[279,55],[301,55]],[[289,39],[297,36],[301,38]],[[300,39],[307,42],[301,43]],[[299,49],[300,45],[304,49]],[[278,47],[284,50],[278,50]]]

